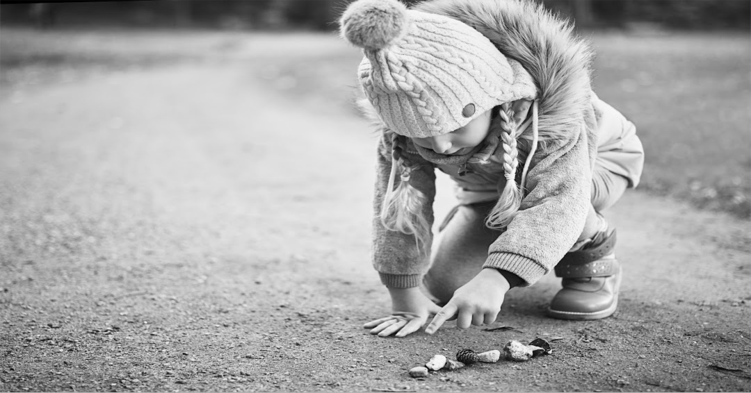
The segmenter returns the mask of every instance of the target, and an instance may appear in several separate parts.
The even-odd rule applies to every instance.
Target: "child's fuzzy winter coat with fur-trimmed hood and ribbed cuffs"
[[[532,75],[538,88],[539,139],[526,178],[520,210],[490,245],[484,268],[502,269],[534,284],[572,248],[590,210],[592,169],[596,163],[629,179],[635,187],[644,153],[634,125],[592,91],[593,54],[565,22],[532,1],[438,0],[415,7],[460,20],[488,37],[506,56]],[[525,133],[531,132],[527,127]],[[388,287],[418,287],[429,256],[415,237],[382,225],[379,212],[391,173],[388,130],[379,142],[373,219],[373,266]],[[530,143],[518,139],[519,160]],[[408,142],[407,158],[419,169],[410,184],[427,196],[422,213],[432,225],[435,169],[457,182],[460,202],[497,199],[505,185],[502,163],[467,163],[472,154],[445,155]],[[460,166],[471,172],[459,175]],[[520,165],[521,166],[521,165]],[[517,182],[520,174],[517,174]]]

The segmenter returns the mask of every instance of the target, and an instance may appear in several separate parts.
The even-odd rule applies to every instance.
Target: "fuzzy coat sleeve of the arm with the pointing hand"
[[[532,157],[520,210],[490,245],[484,268],[514,273],[534,284],[568,252],[590,208],[594,154],[582,126],[571,139],[551,140]]]

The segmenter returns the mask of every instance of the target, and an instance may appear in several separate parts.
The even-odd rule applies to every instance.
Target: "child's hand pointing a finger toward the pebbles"
[[[432,335],[443,323],[453,319],[460,329],[490,325],[496,321],[509,289],[511,286],[498,270],[482,269],[469,283],[454,291],[454,297],[436,314],[425,332]]]

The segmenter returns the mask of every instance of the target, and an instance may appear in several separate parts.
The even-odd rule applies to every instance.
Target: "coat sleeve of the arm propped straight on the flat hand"
[[[428,224],[433,226],[433,199],[436,196],[436,174],[433,164],[425,160],[420,154],[406,152],[407,159],[414,164],[420,164],[412,172],[409,183],[424,194],[422,214]],[[375,196],[373,198],[372,220],[372,264],[379,272],[382,283],[392,288],[418,287],[430,261],[430,245],[432,234],[428,238],[425,249],[418,250],[415,236],[388,230],[381,223],[381,206],[391,175],[391,139],[382,134],[379,141],[376,175]],[[399,175],[394,180],[399,184]]]

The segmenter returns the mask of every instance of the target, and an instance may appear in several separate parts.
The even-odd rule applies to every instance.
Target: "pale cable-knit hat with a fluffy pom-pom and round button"
[[[458,20],[397,0],[358,0],[340,25],[363,48],[358,78],[366,98],[400,135],[449,133],[500,104],[535,98],[526,70]]]

